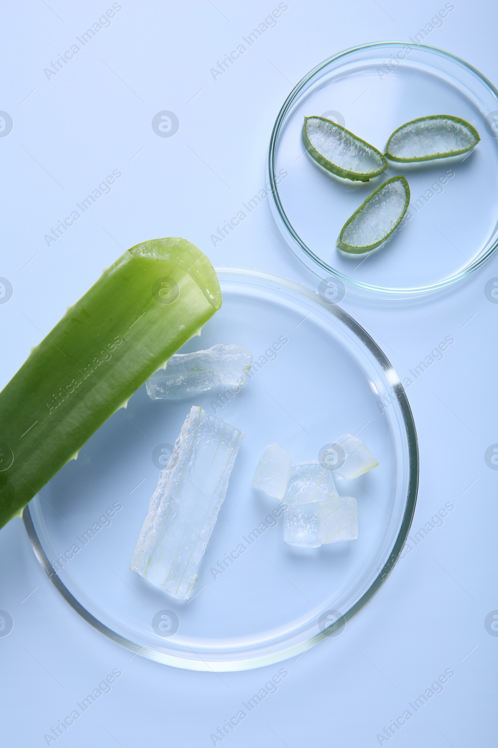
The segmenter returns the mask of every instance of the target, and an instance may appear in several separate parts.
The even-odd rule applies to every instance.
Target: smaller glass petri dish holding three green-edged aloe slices
[[[470,154],[389,165],[367,183],[340,180],[306,153],[305,116],[333,120],[384,152],[402,124],[452,114],[476,127]],[[411,190],[396,233],[370,253],[336,247],[347,218],[384,180]],[[267,158],[270,207],[290,249],[322,278],[368,298],[416,298],[467,277],[498,246],[498,91],[464,61],[423,44],[348,49],[311,70],[278,113]]]

